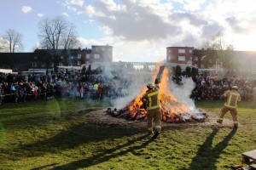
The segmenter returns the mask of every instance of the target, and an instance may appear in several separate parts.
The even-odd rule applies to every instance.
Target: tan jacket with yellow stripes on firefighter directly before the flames
[[[159,92],[157,89],[151,89],[143,96],[143,105],[147,105],[147,110],[160,108]]]

